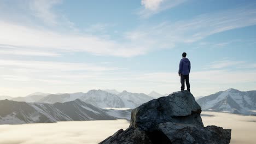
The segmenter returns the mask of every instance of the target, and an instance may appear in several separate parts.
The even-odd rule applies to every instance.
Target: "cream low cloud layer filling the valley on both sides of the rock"
[[[229,113],[202,112],[203,124],[232,129],[231,143],[255,143],[256,117]],[[81,121],[21,125],[0,125],[0,143],[98,143],[117,130],[129,127],[126,120]]]

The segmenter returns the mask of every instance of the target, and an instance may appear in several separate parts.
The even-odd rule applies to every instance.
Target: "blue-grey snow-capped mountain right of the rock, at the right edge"
[[[230,88],[202,97],[197,100],[197,103],[205,111],[256,115],[256,91],[241,92]]]

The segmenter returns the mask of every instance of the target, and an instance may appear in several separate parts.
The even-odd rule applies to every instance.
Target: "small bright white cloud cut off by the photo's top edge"
[[[148,18],[161,11],[176,7],[187,0],[142,0],[142,8],[137,11],[137,14],[142,18]]]

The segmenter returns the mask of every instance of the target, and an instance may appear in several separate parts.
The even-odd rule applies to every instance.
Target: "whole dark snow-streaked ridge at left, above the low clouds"
[[[0,124],[52,123],[117,119],[80,99],[66,103],[42,104],[0,100]]]

